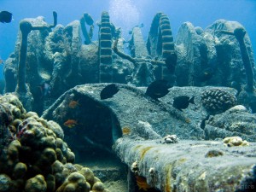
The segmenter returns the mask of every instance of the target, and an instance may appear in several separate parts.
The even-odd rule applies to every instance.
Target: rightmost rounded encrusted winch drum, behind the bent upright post
[[[229,33],[223,33],[224,31],[242,31],[243,35],[242,38],[240,38],[241,41],[243,41],[243,46],[245,47],[244,49],[247,50],[240,48],[241,41],[237,39],[239,38],[239,35],[235,34],[236,32],[234,33],[235,35],[230,36]],[[227,75],[226,77],[223,77],[222,80],[224,80],[224,78],[230,79],[230,82],[227,82],[228,84],[224,84],[222,81],[223,84],[232,86],[235,84],[245,85],[247,82],[247,72],[245,70],[247,70],[247,68],[245,68],[243,63],[243,55],[245,55],[244,51],[247,51],[247,62],[249,62],[253,72],[255,72],[255,61],[253,57],[252,44],[244,26],[236,21],[216,20],[211,26],[206,28],[206,32],[210,32],[212,35],[214,35],[219,67],[224,67],[223,69],[219,69],[223,71],[224,75]],[[225,74],[224,72],[229,73]],[[251,75],[253,76],[253,74]],[[249,77],[250,81],[252,81],[252,78],[255,79],[255,76]],[[251,86],[253,85],[251,84]]]

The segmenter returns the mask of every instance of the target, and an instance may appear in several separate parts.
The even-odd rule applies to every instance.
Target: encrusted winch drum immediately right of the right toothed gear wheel
[[[217,65],[212,34],[206,34],[200,27],[185,22],[177,32],[175,44],[177,49],[177,85],[203,85],[198,77],[200,73],[208,67],[215,71]],[[215,83],[217,82],[215,81]]]

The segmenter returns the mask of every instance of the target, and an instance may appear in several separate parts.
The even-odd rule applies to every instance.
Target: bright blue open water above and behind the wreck
[[[174,38],[185,21],[206,28],[218,19],[236,20],[245,26],[254,52],[256,50],[255,0],[0,0],[0,10],[8,10],[14,17],[9,24],[0,23],[0,57],[3,60],[15,49],[20,20],[43,15],[52,23],[53,10],[58,13],[58,24],[64,26],[79,20],[84,12],[96,21],[100,20],[102,11],[108,11],[113,24],[123,29],[124,38],[130,38],[128,32],[133,26],[143,23],[146,39],[158,12],[169,16]],[[96,39],[97,35],[94,37]],[[0,79],[3,79],[3,65],[0,66]]]

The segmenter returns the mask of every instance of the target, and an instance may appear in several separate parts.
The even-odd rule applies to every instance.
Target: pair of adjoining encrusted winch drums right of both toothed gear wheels
[[[234,36],[221,32],[233,32],[236,28],[245,30],[240,23],[228,20],[217,20],[206,30],[189,22],[183,23],[176,38],[177,84],[214,84],[241,90],[241,85],[246,84],[247,77],[240,46]],[[244,39],[255,71],[252,45],[247,34]]]

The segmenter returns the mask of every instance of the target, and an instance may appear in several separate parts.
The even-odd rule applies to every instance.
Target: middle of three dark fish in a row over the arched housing
[[[172,86],[170,86],[168,81],[166,81],[164,79],[156,80],[148,85],[146,95],[150,96],[154,100],[158,100],[158,98],[166,96],[170,91],[168,89],[171,87]]]

